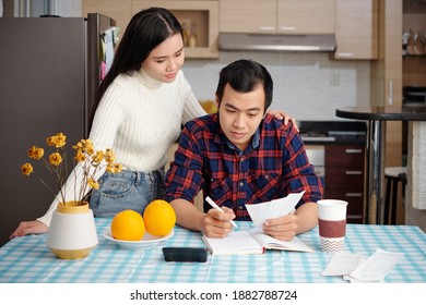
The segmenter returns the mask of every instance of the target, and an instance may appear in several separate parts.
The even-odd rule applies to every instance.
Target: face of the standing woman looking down
[[[154,80],[171,83],[184,61],[184,39],[178,33],[156,46],[142,63],[142,69]]]

